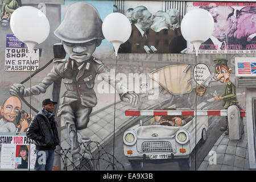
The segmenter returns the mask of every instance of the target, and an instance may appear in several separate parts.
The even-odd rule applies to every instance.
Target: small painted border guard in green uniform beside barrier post
[[[214,97],[214,101],[223,101],[224,109],[228,109],[229,106],[236,105],[240,110],[241,106],[238,105],[236,86],[229,80],[232,69],[228,67],[228,60],[223,58],[213,59],[216,78],[220,80],[222,84],[226,83],[225,93],[222,96]],[[241,122],[241,128],[243,133],[243,123]],[[221,127],[221,131],[225,131],[225,134],[229,134],[228,117],[226,117],[226,126]]]

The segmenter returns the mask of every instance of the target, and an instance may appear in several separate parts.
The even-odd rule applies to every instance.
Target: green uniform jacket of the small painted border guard
[[[228,109],[229,106],[238,104],[236,86],[234,86],[231,81],[226,82],[226,90],[225,94],[222,96],[222,100],[225,109]]]

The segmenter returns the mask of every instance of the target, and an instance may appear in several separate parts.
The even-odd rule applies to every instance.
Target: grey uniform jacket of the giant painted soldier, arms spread
[[[31,93],[32,95],[45,93],[49,85],[62,78],[67,91],[61,98],[60,107],[79,99],[81,100],[81,105],[93,107],[97,104],[96,93],[93,90],[97,74],[100,74],[104,81],[109,82],[110,85],[115,86],[116,84],[116,90],[120,96],[128,92],[127,88],[122,86],[120,82],[115,81],[113,76],[110,76],[110,73],[106,71],[105,65],[100,60],[90,57],[80,68],[77,68],[75,60],[70,58],[53,60],[51,72],[40,84],[31,87]],[[24,89],[24,97],[29,95],[30,89]]]

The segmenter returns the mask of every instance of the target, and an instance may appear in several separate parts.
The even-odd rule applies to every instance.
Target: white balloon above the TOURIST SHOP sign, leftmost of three
[[[27,45],[30,55],[35,45],[44,42],[49,34],[46,15],[32,6],[16,9],[11,15],[10,27],[16,38]]]

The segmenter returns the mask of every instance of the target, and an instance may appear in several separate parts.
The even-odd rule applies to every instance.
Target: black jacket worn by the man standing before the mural
[[[28,126],[26,134],[35,143],[36,150],[55,150],[60,142],[57,122],[53,115],[49,115],[44,109],[39,111]]]

